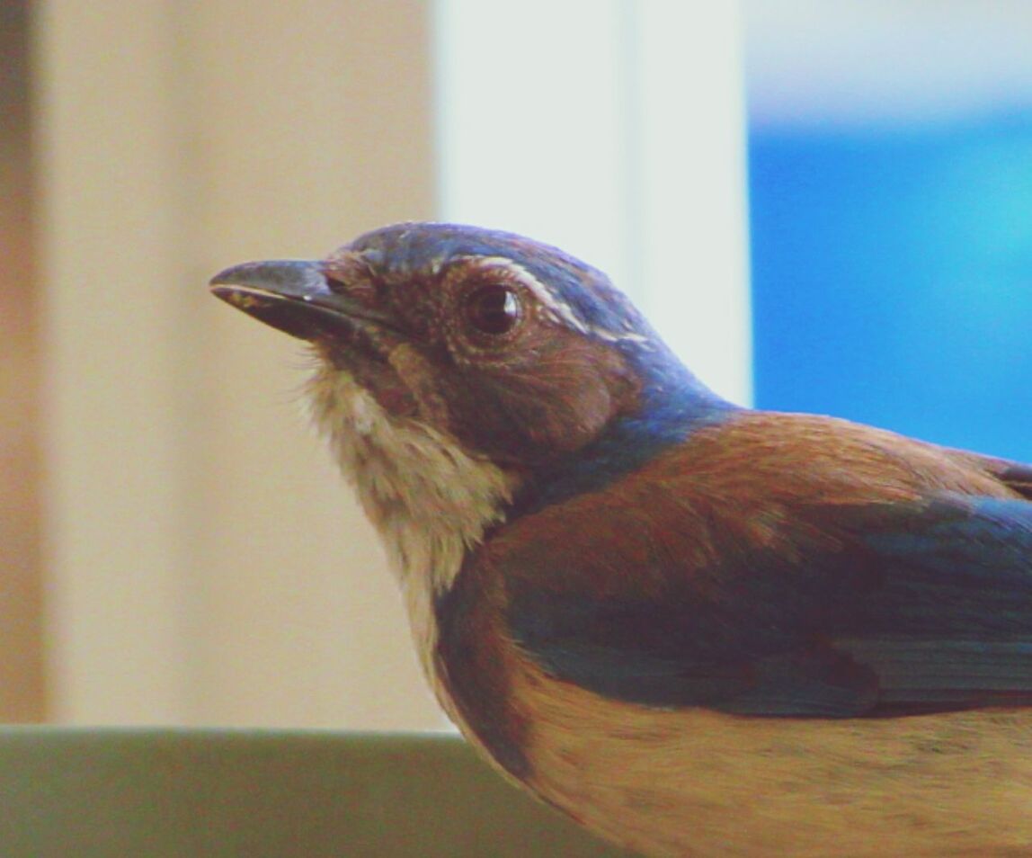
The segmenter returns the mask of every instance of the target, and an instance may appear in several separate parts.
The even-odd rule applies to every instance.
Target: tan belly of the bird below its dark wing
[[[514,677],[529,786],[664,856],[1032,856],[1032,711],[756,719]]]

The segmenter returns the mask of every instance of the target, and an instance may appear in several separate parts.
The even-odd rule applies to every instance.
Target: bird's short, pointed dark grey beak
[[[394,327],[387,315],[357,301],[345,285],[327,280],[320,262],[245,262],[217,274],[211,286],[237,310],[301,340],[351,332],[363,322]]]

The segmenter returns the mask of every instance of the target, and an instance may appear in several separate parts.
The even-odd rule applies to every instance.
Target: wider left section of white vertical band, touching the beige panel
[[[625,282],[622,6],[439,0],[440,215]]]

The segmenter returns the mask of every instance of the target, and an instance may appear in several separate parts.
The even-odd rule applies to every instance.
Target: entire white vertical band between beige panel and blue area
[[[439,0],[436,24],[439,215],[603,268],[748,402],[738,4]]]

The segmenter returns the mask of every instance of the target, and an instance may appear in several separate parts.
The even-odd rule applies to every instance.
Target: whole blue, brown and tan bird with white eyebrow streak
[[[409,222],[234,265],[442,707],[652,856],[1032,854],[1032,467],[727,401],[602,272]]]

